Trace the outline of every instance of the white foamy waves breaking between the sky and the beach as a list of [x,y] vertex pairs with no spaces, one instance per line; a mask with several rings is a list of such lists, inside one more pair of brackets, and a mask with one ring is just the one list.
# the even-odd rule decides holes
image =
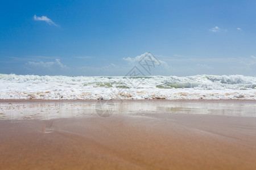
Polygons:
[[0,74],[0,99],[251,99],[256,78],[195,76],[38,76]]

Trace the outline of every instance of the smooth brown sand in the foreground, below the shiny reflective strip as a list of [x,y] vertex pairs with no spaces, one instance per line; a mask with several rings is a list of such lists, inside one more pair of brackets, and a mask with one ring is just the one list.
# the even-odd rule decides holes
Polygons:
[[256,117],[145,113],[2,120],[0,169],[256,169]]

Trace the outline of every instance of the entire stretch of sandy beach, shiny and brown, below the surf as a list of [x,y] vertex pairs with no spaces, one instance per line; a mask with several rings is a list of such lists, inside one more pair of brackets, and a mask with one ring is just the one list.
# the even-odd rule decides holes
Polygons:
[[255,101],[110,106],[2,101],[0,169],[256,169]]

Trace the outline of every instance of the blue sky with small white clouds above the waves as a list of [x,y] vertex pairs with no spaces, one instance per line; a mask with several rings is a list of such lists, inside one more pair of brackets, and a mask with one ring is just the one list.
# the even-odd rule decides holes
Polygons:
[[0,74],[256,76],[256,1],[1,1]]

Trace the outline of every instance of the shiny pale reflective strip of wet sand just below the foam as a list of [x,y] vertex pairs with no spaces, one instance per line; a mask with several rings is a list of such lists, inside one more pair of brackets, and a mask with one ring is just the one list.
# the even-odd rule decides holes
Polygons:
[[[71,117],[105,117],[112,114],[217,114],[225,116],[256,116],[255,101],[213,100],[213,101],[168,101],[168,100],[113,100],[110,104],[99,101],[50,101],[17,100],[2,101],[0,103],[0,120],[30,120]],[[101,109],[101,110],[100,110]],[[110,111],[111,109],[111,111]],[[100,111],[102,111],[102,114]]]

